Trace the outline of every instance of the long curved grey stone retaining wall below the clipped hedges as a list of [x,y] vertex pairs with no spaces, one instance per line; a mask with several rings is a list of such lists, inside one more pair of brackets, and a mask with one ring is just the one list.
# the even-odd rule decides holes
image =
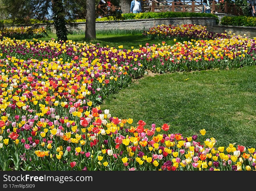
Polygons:
[[[217,14],[216,14],[217,15]],[[223,17],[224,15],[217,15]],[[221,19],[219,19],[221,20]],[[85,31],[85,22],[77,23],[77,28],[69,28],[71,31]],[[256,37],[256,27],[244,27],[244,26],[225,26],[218,25],[215,17],[178,17],[178,18],[163,18],[163,19],[133,19],[122,21],[100,21],[96,22],[96,30],[107,29],[139,29],[147,30],[151,27],[161,24],[166,25],[180,25],[180,24],[196,24],[206,26],[207,30],[215,33],[223,33],[225,31],[235,33],[236,35],[246,35],[250,38]],[[46,27],[45,24],[40,26]],[[53,33],[56,33],[53,24],[49,24],[49,27]]]

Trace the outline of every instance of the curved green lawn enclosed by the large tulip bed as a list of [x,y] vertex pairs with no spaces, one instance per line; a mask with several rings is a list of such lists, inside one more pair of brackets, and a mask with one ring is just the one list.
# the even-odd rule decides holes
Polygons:
[[110,95],[101,108],[133,118],[133,126],[140,119],[150,126],[168,123],[171,133],[185,137],[205,128],[204,138],[214,137],[216,147],[235,142],[255,147],[255,76],[255,66],[145,76]]

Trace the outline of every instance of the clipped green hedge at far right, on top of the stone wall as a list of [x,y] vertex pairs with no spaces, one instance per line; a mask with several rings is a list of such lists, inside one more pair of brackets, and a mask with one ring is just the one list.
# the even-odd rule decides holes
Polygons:
[[221,19],[221,25],[253,26],[253,27],[256,27],[256,17],[248,17],[248,16],[229,17],[229,16],[225,16]]

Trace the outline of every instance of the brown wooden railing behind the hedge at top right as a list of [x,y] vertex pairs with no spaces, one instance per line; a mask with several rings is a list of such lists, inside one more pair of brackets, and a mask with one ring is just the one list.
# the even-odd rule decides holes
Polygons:
[[[202,0],[182,0],[181,3],[177,5],[173,0],[144,0],[143,12],[202,12]],[[243,15],[242,9],[235,4],[216,1],[209,1],[209,3],[211,10],[217,13]]]

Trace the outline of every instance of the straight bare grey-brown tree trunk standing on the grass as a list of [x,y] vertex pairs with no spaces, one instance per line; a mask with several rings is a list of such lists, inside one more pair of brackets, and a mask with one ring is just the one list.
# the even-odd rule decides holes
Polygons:
[[85,25],[85,38],[96,38],[96,26],[95,26],[95,0],[86,1],[86,25]]

